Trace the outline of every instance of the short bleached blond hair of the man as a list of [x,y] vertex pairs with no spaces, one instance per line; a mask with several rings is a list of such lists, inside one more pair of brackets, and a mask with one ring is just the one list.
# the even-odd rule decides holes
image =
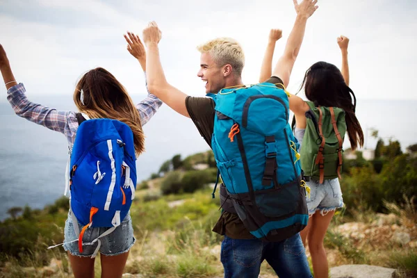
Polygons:
[[242,74],[245,65],[245,54],[236,40],[232,38],[216,38],[197,47],[201,53],[209,53],[220,67],[231,65],[236,76]]

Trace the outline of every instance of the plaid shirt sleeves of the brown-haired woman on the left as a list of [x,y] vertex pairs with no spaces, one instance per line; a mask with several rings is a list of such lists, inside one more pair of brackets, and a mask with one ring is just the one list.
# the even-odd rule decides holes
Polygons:
[[[79,126],[75,116],[76,112],[57,111],[47,106],[35,104],[28,100],[24,94],[25,92],[26,90],[22,83],[14,85],[7,91],[7,99],[15,113],[26,120],[63,133],[67,138],[69,147],[72,148],[76,130]],[[147,97],[136,105],[142,125],[149,121],[161,105],[162,101],[148,91]]]

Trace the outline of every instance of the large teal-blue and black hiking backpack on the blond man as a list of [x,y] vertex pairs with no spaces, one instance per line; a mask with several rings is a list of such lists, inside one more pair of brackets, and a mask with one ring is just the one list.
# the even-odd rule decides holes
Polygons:
[[222,206],[232,202],[256,238],[280,241],[297,234],[309,215],[286,92],[260,83],[208,97],[215,101],[211,147],[227,191],[224,198],[220,190]]

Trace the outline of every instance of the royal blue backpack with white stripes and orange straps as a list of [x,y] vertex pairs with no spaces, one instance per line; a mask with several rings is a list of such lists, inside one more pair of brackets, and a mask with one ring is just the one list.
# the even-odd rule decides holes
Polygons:
[[[76,117],[80,125],[69,168],[70,211],[83,252],[85,229],[110,227],[101,238],[114,231],[129,212],[136,190],[136,156],[127,124],[110,119],[85,120],[81,114]],[[78,222],[83,226],[81,231]],[[99,238],[84,243],[97,242],[92,257],[99,251]]]

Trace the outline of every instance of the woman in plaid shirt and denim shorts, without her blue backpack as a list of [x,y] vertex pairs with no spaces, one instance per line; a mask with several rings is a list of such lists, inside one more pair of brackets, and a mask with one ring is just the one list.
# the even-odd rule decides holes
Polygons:
[[[134,49],[128,47],[128,50],[139,60],[142,70],[145,72],[145,48],[136,35],[128,33],[125,37],[126,40],[134,40],[138,44]],[[63,133],[67,138],[70,149],[74,145],[76,133],[82,121],[80,117],[87,120],[88,118],[103,118],[118,120],[129,126],[131,133],[133,133],[134,152],[137,157],[145,150],[145,136],[142,125],[149,121],[162,104],[157,97],[148,92],[147,97],[135,106],[126,89],[117,81],[115,76],[104,68],[97,67],[86,72],[76,84],[74,102],[82,114],[74,111],[57,111],[53,108],[35,104],[27,99],[24,85],[23,83],[17,83],[15,76],[13,76],[6,51],[1,44],[0,71],[7,89],[7,99],[15,113],[26,120]],[[133,147],[131,149],[133,152]],[[99,169],[98,164],[99,162],[97,162],[97,168]],[[101,176],[104,176],[104,174],[101,174]],[[112,175],[108,173],[107,176],[109,178]],[[99,179],[97,179],[97,183],[98,181]],[[132,193],[134,195],[133,190]],[[106,227],[88,227],[88,229],[85,227],[83,229],[85,233],[83,231],[83,234],[81,234],[80,241],[81,245],[86,246],[79,249],[79,244],[76,243],[78,240],[77,229],[74,227],[78,226],[79,223],[74,223],[72,210],[70,210],[65,222],[64,249],[70,258],[75,277],[95,277],[94,256],[98,251],[101,254],[101,277],[122,277],[129,250],[136,239],[133,237],[133,227],[129,213],[119,221],[120,223],[111,234],[106,233],[108,230]],[[83,227],[80,226],[79,230],[81,228]],[[99,243],[96,244],[98,246],[83,243],[83,241],[91,241],[90,238],[99,238],[100,236]]]

